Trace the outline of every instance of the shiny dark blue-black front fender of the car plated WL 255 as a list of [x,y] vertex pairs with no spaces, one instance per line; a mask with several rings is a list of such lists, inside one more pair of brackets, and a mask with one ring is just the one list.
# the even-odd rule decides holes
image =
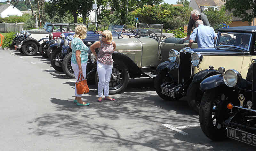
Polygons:
[[216,74],[216,75],[212,75],[206,79],[204,79],[201,84],[200,84],[200,90],[201,91],[205,91],[205,90],[209,90],[215,87],[219,87],[225,85],[224,79],[223,79],[223,75],[222,74]]

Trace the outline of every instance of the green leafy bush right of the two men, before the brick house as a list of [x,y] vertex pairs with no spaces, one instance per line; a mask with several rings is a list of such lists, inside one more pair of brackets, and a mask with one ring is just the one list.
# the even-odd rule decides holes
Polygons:
[[218,28],[230,25],[232,22],[232,14],[228,14],[225,6],[222,6],[220,11],[217,10],[206,10],[204,14],[207,16],[210,25],[217,32]]

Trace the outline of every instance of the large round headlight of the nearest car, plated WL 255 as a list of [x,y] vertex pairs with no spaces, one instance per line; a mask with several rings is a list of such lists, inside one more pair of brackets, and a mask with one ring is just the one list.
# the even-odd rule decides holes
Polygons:
[[223,79],[228,87],[234,87],[242,79],[242,76],[238,71],[229,69],[224,73]]

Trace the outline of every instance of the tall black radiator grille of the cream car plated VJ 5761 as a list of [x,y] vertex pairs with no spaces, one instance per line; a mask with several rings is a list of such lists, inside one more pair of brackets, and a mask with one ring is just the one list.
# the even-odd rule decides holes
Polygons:
[[[180,52],[179,84],[185,83],[191,78],[191,53]],[[184,79],[184,80],[183,80]],[[183,81],[183,82],[182,82]]]

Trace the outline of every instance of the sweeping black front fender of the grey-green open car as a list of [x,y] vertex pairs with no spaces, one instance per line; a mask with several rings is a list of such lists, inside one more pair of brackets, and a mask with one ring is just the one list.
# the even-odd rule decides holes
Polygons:
[[120,60],[121,62],[124,62],[126,64],[126,67],[128,68],[128,71],[130,73],[130,77],[132,78],[137,77],[135,75],[141,75],[143,74],[143,72],[140,70],[140,68],[138,67],[137,64],[135,64],[131,58],[125,56],[124,54],[120,53],[120,52],[114,52],[112,54],[113,60],[114,62],[116,60]]

